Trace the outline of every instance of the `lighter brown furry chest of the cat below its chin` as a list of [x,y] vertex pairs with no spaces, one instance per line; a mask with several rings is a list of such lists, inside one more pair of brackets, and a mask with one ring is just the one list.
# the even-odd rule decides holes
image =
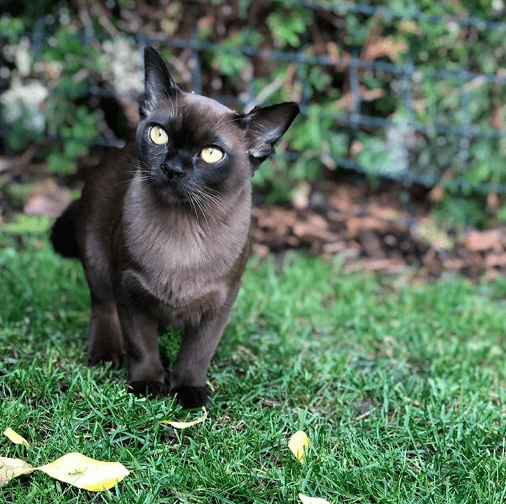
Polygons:
[[132,193],[125,202],[123,233],[136,266],[123,272],[123,281],[172,309],[222,304],[226,277],[242,253],[248,228],[247,207],[233,221],[217,223],[181,209],[153,207]]

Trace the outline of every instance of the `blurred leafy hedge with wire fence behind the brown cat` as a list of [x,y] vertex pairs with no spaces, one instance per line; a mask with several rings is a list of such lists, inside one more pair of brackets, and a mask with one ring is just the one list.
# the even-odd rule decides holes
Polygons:
[[343,176],[430,193],[447,225],[506,221],[503,0],[1,1],[0,207],[69,182],[137,121],[142,48],[184,90],[302,115],[254,183],[268,202]]

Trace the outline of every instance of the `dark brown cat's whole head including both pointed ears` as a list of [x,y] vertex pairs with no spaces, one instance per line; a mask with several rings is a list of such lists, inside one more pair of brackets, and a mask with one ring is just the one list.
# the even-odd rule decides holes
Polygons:
[[153,48],[144,50],[144,69],[139,166],[168,204],[203,209],[240,192],[299,113],[297,104],[287,102],[239,114],[183,92]]

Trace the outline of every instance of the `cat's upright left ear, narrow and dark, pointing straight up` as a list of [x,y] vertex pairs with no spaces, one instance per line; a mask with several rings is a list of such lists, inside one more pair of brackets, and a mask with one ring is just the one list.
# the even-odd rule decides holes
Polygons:
[[144,95],[140,100],[142,117],[149,116],[161,99],[172,98],[179,87],[167,69],[167,64],[156,49],[144,49]]

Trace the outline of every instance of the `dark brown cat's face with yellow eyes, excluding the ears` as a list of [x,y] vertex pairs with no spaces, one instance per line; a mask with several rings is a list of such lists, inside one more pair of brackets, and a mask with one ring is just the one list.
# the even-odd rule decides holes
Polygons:
[[251,171],[245,132],[225,106],[177,91],[139,124],[139,159],[164,202],[211,202],[237,192]]

